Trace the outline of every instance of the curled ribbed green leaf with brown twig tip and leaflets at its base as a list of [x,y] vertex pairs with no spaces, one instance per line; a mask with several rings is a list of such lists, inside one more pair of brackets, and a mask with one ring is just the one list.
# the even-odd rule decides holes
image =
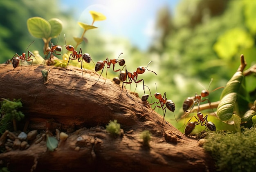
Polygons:
[[[240,131],[240,125],[243,121],[252,119],[253,114],[246,115],[249,104],[249,93],[245,89],[244,68],[247,65],[243,55],[240,57],[241,64],[236,73],[231,77],[220,96],[220,103],[217,108],[217,116],[221,121],[234,123],[236,131]],[[243,117],[245,115],[245,117]]]

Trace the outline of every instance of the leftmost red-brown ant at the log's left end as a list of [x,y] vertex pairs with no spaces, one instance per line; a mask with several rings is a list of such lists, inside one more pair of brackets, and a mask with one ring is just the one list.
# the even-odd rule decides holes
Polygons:
[[[29,44],[29,46],[30,46],[33,42],[35,42],[35,41],[32,41],[32,42]],[[27,47],[27,49],[29,48],[29,46]],[[25,51],[27,51],[27,49],[26,49]],[[18,67],[19,64],[20,64],[20,66],[21,66],[20,71],[21,71],[21,70],[22,70],[22,64],[20,63],[20,60],[21,60],[22,62],[25,62],[25,61],[29,62],[29,61],[32,60],[32,63],[33,63],[33,59],[30,59],[30,57],[31,57],[31,56],[35,57],[35,55],[34,55],[33,53],[31,53],[31,51],[28,51],[27,54],[28,54],[28,56],[26,56],[26,53],[22,53],[22,55],[18,55],[18,54],[16,53],[16,54],[11,58],[11,60],[7,60],[6,64],[9,64],[9,63],[11,62],[11,64],[12,64],[12,66],[13,66],[14,69],[15,69],[16,67]],[[30,55],[29,55],[29,54],[30,54]],[[31,65],[32,65],[32,63],[31,63]],[[19,73],[20,71],[18,71],[18,73]]]

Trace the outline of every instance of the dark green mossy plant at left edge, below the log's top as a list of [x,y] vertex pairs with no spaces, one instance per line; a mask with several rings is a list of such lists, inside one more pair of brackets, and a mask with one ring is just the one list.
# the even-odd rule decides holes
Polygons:
[[24,118],[24,114],[21,111],[18,111],[18,108],[22,108],[22,103],[20,99],[10,101],[8,99],[2,98],[0,113],[2,119],[0,121],[1,128],[0,133],[2,134],[8,127],[9,122],[13,122],[13,130],[17,130],[16,121],[20,121]]

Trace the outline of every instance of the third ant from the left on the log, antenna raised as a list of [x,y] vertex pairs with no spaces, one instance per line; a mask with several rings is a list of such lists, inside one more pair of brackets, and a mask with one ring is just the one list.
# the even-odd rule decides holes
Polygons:
[[[67,45],[66,43],[66,37],[65,37],[65,34],[64,34],[64,38],[65,38],[65,47],[68,51],[72,51],[72,53],[70,54],[70,57],[72,56],[72,58],[69,57],[68,59],[68,62],[67,62],[67,65],[68,63],[70,62],[70,59],[71,60],[76,60],[78,59],[78,62],[81,62],[81,70],[82,70],[82,76],[83,76],[83,68],[82,68],[82,65],[83,65],[83,60],[86,62],[86,63],[90,63],[91,62],[91,56],[88,54],[88,53],[82,53],[82,48],[80,48],[79,50],[79,53],[77,53],[77,51],[75,51],[74,47],[72,45]],[[82,57],[82,60],[80,60],[80,58]],[[92,61],[93,62],[93,61]],[[94,62],[93,62],[94,63]],[[65,68],[65,72],[67,70],[67,66]],[[65,73],[64,72],[64,73]]]

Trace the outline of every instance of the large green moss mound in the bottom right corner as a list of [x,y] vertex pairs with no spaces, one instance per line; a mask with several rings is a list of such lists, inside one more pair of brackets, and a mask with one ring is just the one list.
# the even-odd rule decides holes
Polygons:
[[252,172],[256,165],[256,127],[235,134],[215,132],[204,149],[216,160],[218,171]]

